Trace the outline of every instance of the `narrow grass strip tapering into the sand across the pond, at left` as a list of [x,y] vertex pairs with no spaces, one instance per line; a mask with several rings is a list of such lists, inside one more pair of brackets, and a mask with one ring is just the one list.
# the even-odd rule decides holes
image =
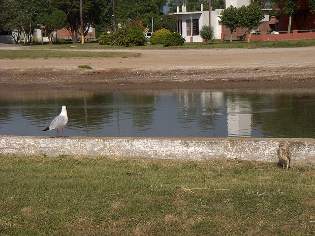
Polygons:
[[65,50],[0,50],[0,59],[37,59],[37,58],[128,58],[140,57],[141,53],[128,52],[92,52],[92,51],[65,51]]

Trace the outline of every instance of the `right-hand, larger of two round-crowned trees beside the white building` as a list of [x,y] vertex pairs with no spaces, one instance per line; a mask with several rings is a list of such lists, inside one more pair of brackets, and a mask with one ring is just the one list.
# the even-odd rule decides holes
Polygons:
[[257,28],[264,19],[261,5],[254,2],[248,6],[241,6],[237,11],[239,26],[249,31],[248,42],[251,42],[251,30]]

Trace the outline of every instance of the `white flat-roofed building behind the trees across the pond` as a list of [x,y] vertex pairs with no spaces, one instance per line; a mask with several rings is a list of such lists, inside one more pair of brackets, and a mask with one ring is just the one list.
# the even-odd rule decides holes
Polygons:
[[[243,5],[248,6],[252,0],[225,0],[225,7],[230,5],[234,7],[241,7]],[[211,11],[211,25],[215,30],[215,38],[221,38],[222,25],[220,23],[219,16],[223,9],[216,9]],[[269,10],[263,9],[265,18],[263,21],[269,21]],[[182,5],[181,11],[180,7],[177,7],[175,13],[170,13],[169,15],[175,15],[177,18],[177,32],[179,32],[186,42],[202,42],[203,39],[199,35],[199,30],[204,25],[209,25],[209,11],[203,10],[203,4],[201,4],[201,11],[191,11],[187,12],[186,5]]]

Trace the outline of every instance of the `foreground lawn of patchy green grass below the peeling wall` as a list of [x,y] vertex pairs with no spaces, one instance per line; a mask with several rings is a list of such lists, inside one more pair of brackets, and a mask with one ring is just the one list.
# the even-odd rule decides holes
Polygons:
[[314,169],[0,155],[0,235],[311,235]]

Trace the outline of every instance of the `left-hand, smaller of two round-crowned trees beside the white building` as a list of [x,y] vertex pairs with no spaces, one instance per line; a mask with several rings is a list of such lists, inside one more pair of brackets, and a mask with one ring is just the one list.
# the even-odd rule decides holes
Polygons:
[[233,31],[239,26],[238,9],[231,5],[221,12],[219,18],[223,26],[230,29],[230,42],[232,42]]

